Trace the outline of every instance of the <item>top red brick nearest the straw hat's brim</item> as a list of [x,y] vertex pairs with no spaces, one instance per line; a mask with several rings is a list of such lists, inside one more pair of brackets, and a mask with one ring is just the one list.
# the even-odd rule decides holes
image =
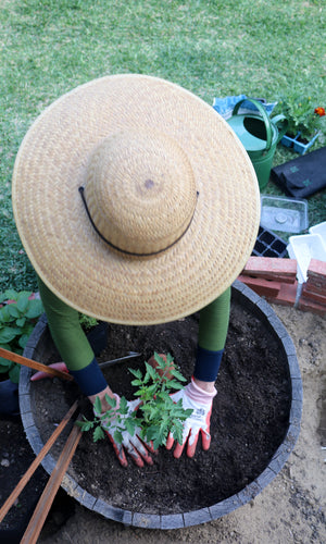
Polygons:
[[296,259],[279,259],[277,257],[250,257],[242,274],[263,276],[266,274],[283,277],[294,277],[297,275]]

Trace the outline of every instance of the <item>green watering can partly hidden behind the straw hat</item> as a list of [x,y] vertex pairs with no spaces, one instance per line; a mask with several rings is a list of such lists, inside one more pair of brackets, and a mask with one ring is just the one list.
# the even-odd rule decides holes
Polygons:
[[[240,106],[246,101],[252,102],[261,115],[255,113],[238,115]],[[271,119],[261,102],[253,98],[244,98],[236,103],[233,116],[227,122],[248,152],[262,190],[269,180],[276,146],[287,132],[287,119],[283,114]],[[278,126],[280,122],[283,123]]]

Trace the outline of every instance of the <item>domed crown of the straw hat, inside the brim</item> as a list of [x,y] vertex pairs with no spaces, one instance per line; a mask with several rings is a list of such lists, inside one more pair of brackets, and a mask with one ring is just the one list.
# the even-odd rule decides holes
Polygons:
[[185,151],[154,131],[120,132],[92,151],[85,182],[91,220],[121,251],[151,255],[187,231],[197,201]]

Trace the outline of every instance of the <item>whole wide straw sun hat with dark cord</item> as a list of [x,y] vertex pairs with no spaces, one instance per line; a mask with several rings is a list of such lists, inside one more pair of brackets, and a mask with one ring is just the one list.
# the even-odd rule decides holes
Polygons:
[[12,190],[42,281],[115,323],[206,306],[241,272],[259,227],[255,173],[228,124],[143,75],[95,79],[50,106],[21,145]]

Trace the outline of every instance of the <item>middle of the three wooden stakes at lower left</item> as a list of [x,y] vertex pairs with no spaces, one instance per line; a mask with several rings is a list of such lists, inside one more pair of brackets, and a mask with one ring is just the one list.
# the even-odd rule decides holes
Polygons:
[[2,507],[0,509],[0,523],[3,520],[4,516],[8,514],[8,511],[10,510],[10,508],[12,507],[12,505],[14,504],[14,502],[16,500],[16,498],[22,493],[22,491],[25,487],[25,485],[27,484],[27,482],[33,477],[34,472],[36,471],[36,469],[38,468],[38,466],[40,465],[40,462],[43,460],[43,458],[48,454],[49,449],[53,446],[53,444],[57,441],[57,438],[60,435],[60,433],[63,431],[63,429],[65,428],[65,425],[67,424],[67,422],[71,420],[71,418],[72,418],[73,413],[76,411],[77,407],[78,407],[78,400],[76,400],[73,404],[73,406],[71,407],[71,409],[64,416],[63,420],[59,423],[59,425],[55,429],[55,431],[53,432],[53,434],[50,436],[50,438],[48,440],[48,442],[43,445],[43,447],[40,450],[40,453],[38,454],[38,456],[34,459],[34,461],[32,462],[32,465],[28,468],[28,470],[22,477],[22,479],[20,480],[20,482],[17,483],[17,485],[15,486],[15,489],[13,490],[13,492],[11,493],[11,495],[8,497],[8,499],[5,500],[5,503],[2,505]]

